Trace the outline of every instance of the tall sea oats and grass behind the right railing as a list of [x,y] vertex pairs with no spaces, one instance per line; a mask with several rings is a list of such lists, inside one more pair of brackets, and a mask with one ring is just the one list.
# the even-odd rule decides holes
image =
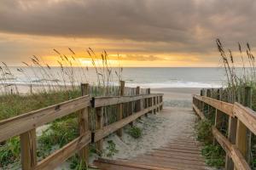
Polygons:
[[[252,88],[252,109],[256,111],[256,65],[253,48],[247,42],[244,47],[237,43],[237,52],[225,49],[224,44],[217,39],[218,52],[221,56],[222,65],[225,70],[225,89],[229,91],[228,102],[239,102],[245,104],[245,88]],[[227,120],[226,120],[227,121]],[[225,123],[227,125],[227,123]],[[227,127],[225,127],[227,129]],[[250,162],[252,169],[256,168],[256,136],[252,133]]]

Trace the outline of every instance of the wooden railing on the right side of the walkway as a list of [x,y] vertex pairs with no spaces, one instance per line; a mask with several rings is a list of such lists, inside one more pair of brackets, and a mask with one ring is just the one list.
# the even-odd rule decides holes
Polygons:
[[[250,93],[247,93],[250,94]],[[247,95],[246,98],[251,98]],[[249,107],[243,106],[239,103],[230,104],[218,99],[212,99],[206,96],[193,96],[193,110],[201,117],[206,119],[204,114],[205,106],[210,106],[215,110],[215,123],[212,126],[212,134],[218,143],[223,147],[226,155],[231,158],[235,169],[251,169],[248,164],[247,152],[250,150],[248,132],[256,134],[256,113]],[[207,114],[211,114],[210,109]],[[229,117],[229,126],[227,137],[218,130],[218,126],[222,115]],[[226,169],[233,169],[230,167],[229,159],[225,161]]]

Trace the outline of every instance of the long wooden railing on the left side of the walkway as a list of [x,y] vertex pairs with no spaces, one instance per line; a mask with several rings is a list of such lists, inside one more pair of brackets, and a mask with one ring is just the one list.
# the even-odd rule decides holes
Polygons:
[[[0,122],[0,143],[15,136],[20,136],[21,167],[22,169],[54,169],[70,156],[79,152],[80,159],[88,162],[88,144],[96,143],[96,149],[102,150],[102,139],[110,133],[117,131],[122,135],[122,127],[135,121],[138,117],[149,112],[160,111],[163,105],[163,94],[122,96],[125,83],[121,82],[120,96],[90,98],[88,94],[89,85],[82,84],[82,97],[52,105],[38,111],[32,111],[20,116],[15,116]],[[149,92],[149,91],[148,91]],[[122,107],[127,103],[136,105],[136,112],[123,118]],[[103,126],[103,107],[108,105],[119,105],[118,121]],[[90,109],[96,110],[96,130],[89,129]],[[46,123],[53,122],[58,118],[76,112],[79,120],[79,137],[73,139],[60,150],[47,156],[42,161],[37,161],[37,135],[36,128]]]

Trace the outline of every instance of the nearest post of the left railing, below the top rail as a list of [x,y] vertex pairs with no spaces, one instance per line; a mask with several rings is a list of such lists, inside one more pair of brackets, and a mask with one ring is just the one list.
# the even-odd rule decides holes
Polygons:
[[30,170],[37,165],[36,129],[20,134],[21,167]]

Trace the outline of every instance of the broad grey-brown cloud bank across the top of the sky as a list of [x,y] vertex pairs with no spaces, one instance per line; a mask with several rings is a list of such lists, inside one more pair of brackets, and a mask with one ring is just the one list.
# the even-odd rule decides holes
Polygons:
[[200,53],[216,37],[256,45],[255,16],[254,0],[2,0],[0,31],[177,43]]

